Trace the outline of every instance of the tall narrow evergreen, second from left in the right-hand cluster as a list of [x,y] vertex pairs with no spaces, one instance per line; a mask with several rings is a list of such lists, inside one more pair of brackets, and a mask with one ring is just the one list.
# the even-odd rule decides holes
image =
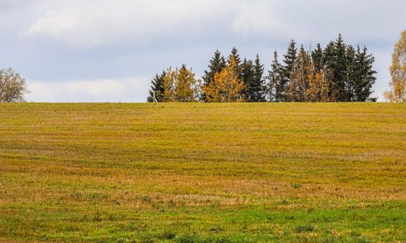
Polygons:
[[286,55],[283,56],[283,62],[285,63],[283,67],[283,79],[282,82],[280,83],[281,88],[282,88],[282,101],[286,101],[286,90],[287,87],[289,86],[289,82],[291,81],[291,74],[294,72],[294,65],[295,65],[295,60],[296,60],[296,54],[297,54],[297,49],[296,49],[296,42],[294,40],[291,40],[289,43],[289,47],[287,49]]

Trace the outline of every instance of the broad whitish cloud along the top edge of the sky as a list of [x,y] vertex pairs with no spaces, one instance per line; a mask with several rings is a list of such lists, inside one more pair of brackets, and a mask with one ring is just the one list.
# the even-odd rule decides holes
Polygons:
[[40,0],[35,9],[41,15],[23,34],[52,37],[77,47],[146,43],[153,37],[176,36],[179,32],[198,34],[224,13],[225,8],[213,6],[212,0],[71,0],[51,6],[49,1]]

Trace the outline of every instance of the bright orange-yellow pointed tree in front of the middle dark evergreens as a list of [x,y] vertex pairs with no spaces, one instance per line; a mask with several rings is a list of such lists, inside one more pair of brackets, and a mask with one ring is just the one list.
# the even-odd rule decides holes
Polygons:
[[228,65],[221,72],[214,74],[210,85],[203,86],[203,92],[208,102],[242,102],[244,97],[244,82],[236,72],[235,56],[231,56]]

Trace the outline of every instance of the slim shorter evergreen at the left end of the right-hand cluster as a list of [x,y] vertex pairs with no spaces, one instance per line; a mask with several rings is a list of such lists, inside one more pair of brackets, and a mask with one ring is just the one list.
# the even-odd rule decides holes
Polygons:
[[278,61],[278,52],[273,52],[273,60],[271,62],[271,69],[268,71],[268,84],[267,84],[267,97],[269,101],[280,102],[282,101],[283,87],[282,81],[284,78],[284,70]]

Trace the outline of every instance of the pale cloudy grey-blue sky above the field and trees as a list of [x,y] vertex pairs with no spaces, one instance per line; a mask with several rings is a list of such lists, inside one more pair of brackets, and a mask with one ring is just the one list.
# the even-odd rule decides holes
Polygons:
[[0,0],[0,68],[26,78],[27,101],[145,102],[155,74],[185,63],[201,76],[216,49],[269,69],[291,39],[341,33],[375,56],[382,97],[405,13],[404,0]]

